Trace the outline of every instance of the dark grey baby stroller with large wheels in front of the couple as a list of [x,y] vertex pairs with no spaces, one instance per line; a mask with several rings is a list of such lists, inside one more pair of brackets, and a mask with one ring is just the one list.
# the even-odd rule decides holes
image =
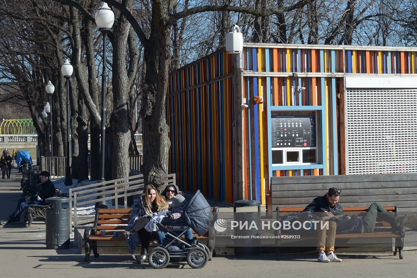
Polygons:
[[[156,227],[161,232],[170,236],[170,238],[166,238],[163,244],[158,245],[149,252],[148,263],[153,268],[162,269],[168,265],[171,258],[176,258],[178,261],[186,258],[188,265],[192,268],[203,268],[208,261],[208,247],[199,243],[196,238],[193,239],[192,243],[188,243],[185,237],[183,237],[190,227],[198,235],[205,234],[213,220],[210,205],[208,205],[200,190],[197,190],[196,194],[188,202],[183,217],[178,219],[180,221],[165,217],[161,222],[158,222],[157,217],[154,217],[155,215],[151,213],[151,209],[148,207],[145,195],[141,196],[141,202],[146,210],[145,217],[148,217],[149,221],[156,224]],[[173,230],[181,232],[177,234]],[[174,244],[179,250],[170,248]]]

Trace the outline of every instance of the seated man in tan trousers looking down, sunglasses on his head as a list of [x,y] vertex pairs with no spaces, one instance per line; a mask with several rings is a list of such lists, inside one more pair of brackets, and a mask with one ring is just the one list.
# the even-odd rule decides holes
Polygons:
[[[310,212],[326,212],[328,217],[343,214],[342,206],[339,205],[339,196],[342,190],[336,187],[329,188],[329,191],[322,197],[314,198],[310,205],[306,206],[304,211]],[[321,227],[321,225],[320,225]],[[337,258],[334,251],[334,241],[336,238],[336,222],[329,222],[329,232],[326,229],[318,230],[317,250],[319,250],[319,262],[341,262],[342,259]],[[325,252],[326,251],[326,252]]]

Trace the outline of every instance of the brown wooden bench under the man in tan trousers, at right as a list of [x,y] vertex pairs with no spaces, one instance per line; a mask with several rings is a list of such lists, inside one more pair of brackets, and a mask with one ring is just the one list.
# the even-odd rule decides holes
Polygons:
[[[297,213],[304,210],[305,207],[276,207],[276,218],[278,221],[281,220],[281,217],[289,213]],[[397,216],[398,208],[396,206],[384,207],[389,212],[394,212],[394,215]],[[348,215],[357,215],[362,216],[368,207],[343,207],[343,211]],[[281,230],[276,231],[276,235],[281,235]],[[377,223],[375,225],[374,232],[372,233],[349,233],[349,234],[336,234],[336,244],[338,239],[359,239],[359,238],[395,238],[395,249],[394,256],[397,255],[397,250],[399,251],[399,258],[403,258],[402,249],[404,247],[404,227],[399,226],[397,229],[391,227],[391,225],[385,222],[382,219],[377,218]],[[301,235],[301,240],[317,240],[317,234],[312,234],[309,236]],[[281,240],[277,240],[277,260],[280,256],[280,246]]]

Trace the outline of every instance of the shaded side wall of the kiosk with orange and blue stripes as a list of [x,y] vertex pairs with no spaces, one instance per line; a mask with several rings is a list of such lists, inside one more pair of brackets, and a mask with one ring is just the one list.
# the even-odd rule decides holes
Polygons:
[[181,190],[233,202],[231,56],[207,56],[169,79],[169,172]]

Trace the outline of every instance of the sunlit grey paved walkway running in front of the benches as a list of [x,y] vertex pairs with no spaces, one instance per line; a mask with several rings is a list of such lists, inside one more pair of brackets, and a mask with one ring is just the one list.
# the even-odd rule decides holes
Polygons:
[[[19,173],[20,174],[20,173]],[[20,177],[13,170],[12,179],[0,179],[0,218],[15,209],[21,197]],[[404,260],[392,253],[338,254],[342,263],[317,262],[312,253],[284,254],[280,261],[274,255],[236,259],[234,255],[218,255],[203,269],[191,269],[184,263],[171,263],[163,270],[132,262],[130,256],[93,256],[83,261],[76,248],[47,250],[45,224],[35,220],[24,228],[20,224],[0,225],[1,277],[415,277],[416,251],[405,251]]]

